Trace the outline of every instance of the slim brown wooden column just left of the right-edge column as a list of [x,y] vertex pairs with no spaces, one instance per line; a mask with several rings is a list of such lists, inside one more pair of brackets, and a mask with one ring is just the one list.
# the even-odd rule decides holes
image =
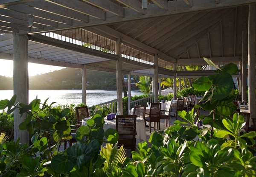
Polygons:
[[247,55],[248,55],[248,6],[243,6],[243,31],[242,31],[242,101],[247,103]]

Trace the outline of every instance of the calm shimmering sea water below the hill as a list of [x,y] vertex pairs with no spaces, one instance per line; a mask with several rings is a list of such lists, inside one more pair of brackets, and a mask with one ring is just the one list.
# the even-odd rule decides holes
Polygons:
[[[143,95],[140,91],[131,91],[131,96]],[[11,99],[13,96],[13,90],[0,90],[0,100]],[[38,96],[41,102],[44,102],[47,98],[47,103],[50,104],[53,101],[58,104],[80,104],[82,101],[82,90],[29,90],[29,102]],[[111,101],[117,98],[116,91],[109,90],[86,90],[86,102],[87,105],[92,106],[107,101]]]

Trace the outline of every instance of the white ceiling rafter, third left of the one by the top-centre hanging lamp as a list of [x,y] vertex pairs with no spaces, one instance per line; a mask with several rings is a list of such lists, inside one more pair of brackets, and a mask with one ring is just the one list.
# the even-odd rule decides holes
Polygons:
[[45,0],[37,0],[26,4],[41,9],[43,11],[50,12],[52,14],[61,15],[63,17],[69,17],[71,19],[80,20],[82,22],[88,22],[88,15],[82,14],[78,11],[73,11],[69,8],[58,6],[54,3],[49,3]]

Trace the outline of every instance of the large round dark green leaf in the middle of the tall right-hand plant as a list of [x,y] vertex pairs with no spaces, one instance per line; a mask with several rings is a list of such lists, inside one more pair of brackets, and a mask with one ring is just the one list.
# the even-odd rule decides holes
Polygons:
[[212,84],[213,98],[218,100],[227,97],[234,87],[232,76],[227,72],[219,73],[213,79]]

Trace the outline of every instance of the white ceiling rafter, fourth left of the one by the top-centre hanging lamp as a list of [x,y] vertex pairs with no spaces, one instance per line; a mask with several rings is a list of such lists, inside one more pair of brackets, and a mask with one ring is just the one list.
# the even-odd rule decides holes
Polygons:
[[68,24],[68,25],[72,25],[72,23],[73,23],[72,19],[70,19],[70,18],[62,17],[62,16],[59,16],[56,14],[51,14],[46,11],[41,11],[39,9],[32,8],[32,7],[23,5],[23,4],[8,6],[7,8],[14,10],[14,11],[19,11],[19,12],[22,12],[25,14],[33,15],[36,17],[41,17],[41,18],[44,18],[47,20],[52,20],[55,22],[61,22],[61,23]]

